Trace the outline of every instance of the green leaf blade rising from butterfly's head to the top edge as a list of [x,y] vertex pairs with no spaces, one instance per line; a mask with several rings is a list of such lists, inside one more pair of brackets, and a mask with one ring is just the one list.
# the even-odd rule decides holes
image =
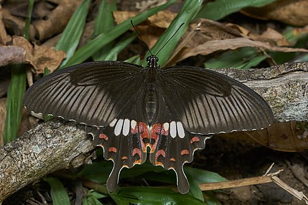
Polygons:
[[[192,1],[184,1],[183,7],[181,8],[181,11],[174,20],[172,20],[172,23],[166,29],[166,31],[162,34],[162,36],[159,37],[157,40],[155,46],[151,49],[151,53],[153,55],[156,55],[157,52],[162,49],[162,46],[166,44],[164,49],[160,51],[160,53],[157,55],[159,58],[159,64],[163,67],[166,64],[166,61],[168,61],[170,55],[174,51],[175,47],[177,46],[177,42],[179,42],[179,39],[183,34],[185,33],[186,28],[188,27],[190,21],[196,13],[198,12],[199,8],[201,7],[203,1],[199,0],[192,0]],[[184,25],[179,29],[179,26],[184,23]],[[179,29],[179,31],[177,31]],[[175,32],[177,33],[175,34]],[[175,36],[174,36],[175,35]],[[146,56],[149,56],[150,53],[148,52]],[[146,66],[146,58],[142,61],[142,65]]]

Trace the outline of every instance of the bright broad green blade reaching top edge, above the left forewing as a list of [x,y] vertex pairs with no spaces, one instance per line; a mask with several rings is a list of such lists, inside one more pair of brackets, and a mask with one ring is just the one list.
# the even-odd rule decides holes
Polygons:
[[66,59],[62,61],[60,68],[63,68],[66,61],[68,61],[76,51],[82,32],[84,31],[90,2],[90,0],[85,0],[81,5],[79,5],[79,8],[77,8],[73,16],[70,18],[60,40],[55,46],[55,50],[64,51],[66,53]]

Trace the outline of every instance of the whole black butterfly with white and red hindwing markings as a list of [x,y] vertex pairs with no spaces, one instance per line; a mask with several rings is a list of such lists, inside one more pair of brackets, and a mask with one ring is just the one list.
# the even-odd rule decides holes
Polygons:
[[223,74],[192,66],[159,68],[96,61],[53,72],[38,80],[23,103],[36,113],[99,127],[94,142],[114,162],[107,189],[114,191],[123,167],[150,161],[177,174],[179,192],[189,183],[183,164],[215,133],[268,126],[273,114],[256,92]]

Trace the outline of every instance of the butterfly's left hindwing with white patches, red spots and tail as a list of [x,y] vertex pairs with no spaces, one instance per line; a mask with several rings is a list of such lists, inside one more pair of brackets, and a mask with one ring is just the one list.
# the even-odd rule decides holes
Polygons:
[[137,100],[125,107],[109,126],[100,128],[99,135],[94,138],[94,143],[103,147],[104,158],[114,162],[106,184],[109,191],[116,190],[123,167],[131,168],[146,161],[150,136],[142,112],[143,94],[140,92]]

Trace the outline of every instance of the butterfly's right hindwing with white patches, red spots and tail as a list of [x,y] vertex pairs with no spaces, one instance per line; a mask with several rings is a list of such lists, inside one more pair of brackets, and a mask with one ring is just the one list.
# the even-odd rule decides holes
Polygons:
[[205,140],[210,136],[196,135],[186,131],[183,124],[159,97],[159,106],[151,126],[150,161],[164,169],[173,169],[177,174],[180,193],[188,193],[190,184],[183,172],[183,164],[191,163],[194,151],[205,148]]

